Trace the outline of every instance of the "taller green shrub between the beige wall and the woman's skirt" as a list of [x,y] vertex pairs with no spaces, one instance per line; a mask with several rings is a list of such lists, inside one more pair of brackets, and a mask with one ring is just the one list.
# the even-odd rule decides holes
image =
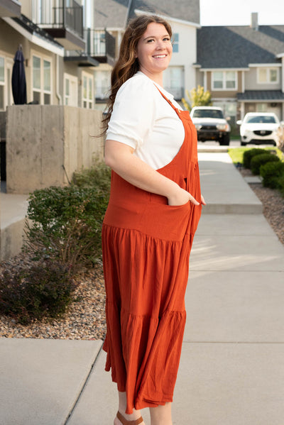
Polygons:
[[36,260],[54,258],[70,275],[101,258],[102,221],[109,193],[101,189],[49,187],[29,197],[23,250]]

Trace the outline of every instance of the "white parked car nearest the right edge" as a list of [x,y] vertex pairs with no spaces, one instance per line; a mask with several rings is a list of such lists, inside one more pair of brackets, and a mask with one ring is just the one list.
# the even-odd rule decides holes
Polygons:
[[240,127],[241,145],[279,144],[279,128],[281,123],[273,112],[249,112],[244,120],[236,121]]

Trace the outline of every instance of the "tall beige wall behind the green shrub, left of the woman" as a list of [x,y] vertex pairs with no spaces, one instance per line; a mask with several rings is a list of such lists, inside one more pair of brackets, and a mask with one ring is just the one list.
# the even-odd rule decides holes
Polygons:
[[[17,105],[7,108],[7,193],[67,184],[67,177],[103,157],[102,113],[72,106]],[[65,171],[62,165],[64,165]]]

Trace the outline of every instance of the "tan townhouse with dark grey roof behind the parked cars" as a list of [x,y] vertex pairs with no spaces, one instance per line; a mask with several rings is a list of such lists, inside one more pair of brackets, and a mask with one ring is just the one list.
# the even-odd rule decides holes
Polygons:
[[284,25],[205,26],[197,30],[197,84],[212,94],[231,122],[247,112],[284,119]]

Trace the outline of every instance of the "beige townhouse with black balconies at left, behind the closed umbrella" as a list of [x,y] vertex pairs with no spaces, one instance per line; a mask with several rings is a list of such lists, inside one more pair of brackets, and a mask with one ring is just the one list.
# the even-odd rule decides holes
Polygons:
[[[25,58],[27,103],[94,108],[82,0],[0,0],[0,111],[13,104],[13,57]],[[75,54],[74,54],[75,52]]]

